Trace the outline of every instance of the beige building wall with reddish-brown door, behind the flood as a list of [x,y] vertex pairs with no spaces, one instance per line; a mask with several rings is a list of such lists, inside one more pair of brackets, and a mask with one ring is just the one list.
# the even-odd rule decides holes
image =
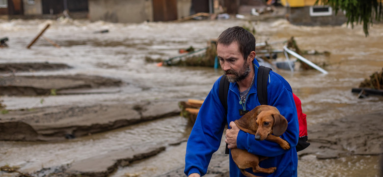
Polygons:
[[213,0],[89,0],[89,19],[115,23],[172,21],[213,13]]

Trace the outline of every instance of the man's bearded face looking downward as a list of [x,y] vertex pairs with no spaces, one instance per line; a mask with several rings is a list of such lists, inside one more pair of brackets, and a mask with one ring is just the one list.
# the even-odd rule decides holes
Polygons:
[[242,81],[250,73],[249,60],[245,61],[242,53],[239,51],[237,42],[233,42],[228,46],[218,44],[217,54],[221,68],[229,82]]

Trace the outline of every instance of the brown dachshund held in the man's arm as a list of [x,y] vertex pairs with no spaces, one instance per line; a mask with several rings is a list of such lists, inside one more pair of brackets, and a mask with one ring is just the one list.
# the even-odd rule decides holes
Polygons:
[[[279,111],[274,106],[257,106],[242,118],[235,120],[234,123],[242,131],[255,135],[255,140],[269,140],[278,143],[283,149],[290,148],[289,143],[279,137],[287,129],[287,120],[279,114]],[[239,148],[232,148],[231,155],[241,173],[246,177],[256,177],[246,172],[245,169],[247,168],[252,168],[254,173],[268,174],[274,173],[276,170],[276,167],[268,169],[259,167],[259,162],[268,157],[260,157]]]

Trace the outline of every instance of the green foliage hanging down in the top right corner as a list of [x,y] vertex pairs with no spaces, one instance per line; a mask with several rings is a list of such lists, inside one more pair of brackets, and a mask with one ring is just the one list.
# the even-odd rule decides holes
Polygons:
[[363,31],[368,36],[368,25],[374,20],[381,21],[383,19],[382,3],[383,0],[317,0],[316,4],[331,6],[335,12],[344,10],[347,17],[347,24],[351,23],[354,28],[354,22],[363,25]]

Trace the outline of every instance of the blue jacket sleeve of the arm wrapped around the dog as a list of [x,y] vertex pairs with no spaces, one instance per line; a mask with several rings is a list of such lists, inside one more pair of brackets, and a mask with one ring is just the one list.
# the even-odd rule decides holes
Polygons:
[[[272,78],[273,79],[273,78]],[[278,78],[274,78],[279,81]],[[283,80],[284,81],[284,80]],[[287,130],[280,137],[290,144],[290,149],[295,150],[299,138],[299,125],[297,110],[290,86],[282,82],[273,82],[268,86],[268,104],[276,107],[280,114],[288,121]],[[270,87],[271,86],[271,87]],[[254,135],[240,131],[237,137],[237,147],[246,149],[248,152],[274,157],[285,153],[288,150],[282,149],[277,143],[270,141],[256,141]]]

